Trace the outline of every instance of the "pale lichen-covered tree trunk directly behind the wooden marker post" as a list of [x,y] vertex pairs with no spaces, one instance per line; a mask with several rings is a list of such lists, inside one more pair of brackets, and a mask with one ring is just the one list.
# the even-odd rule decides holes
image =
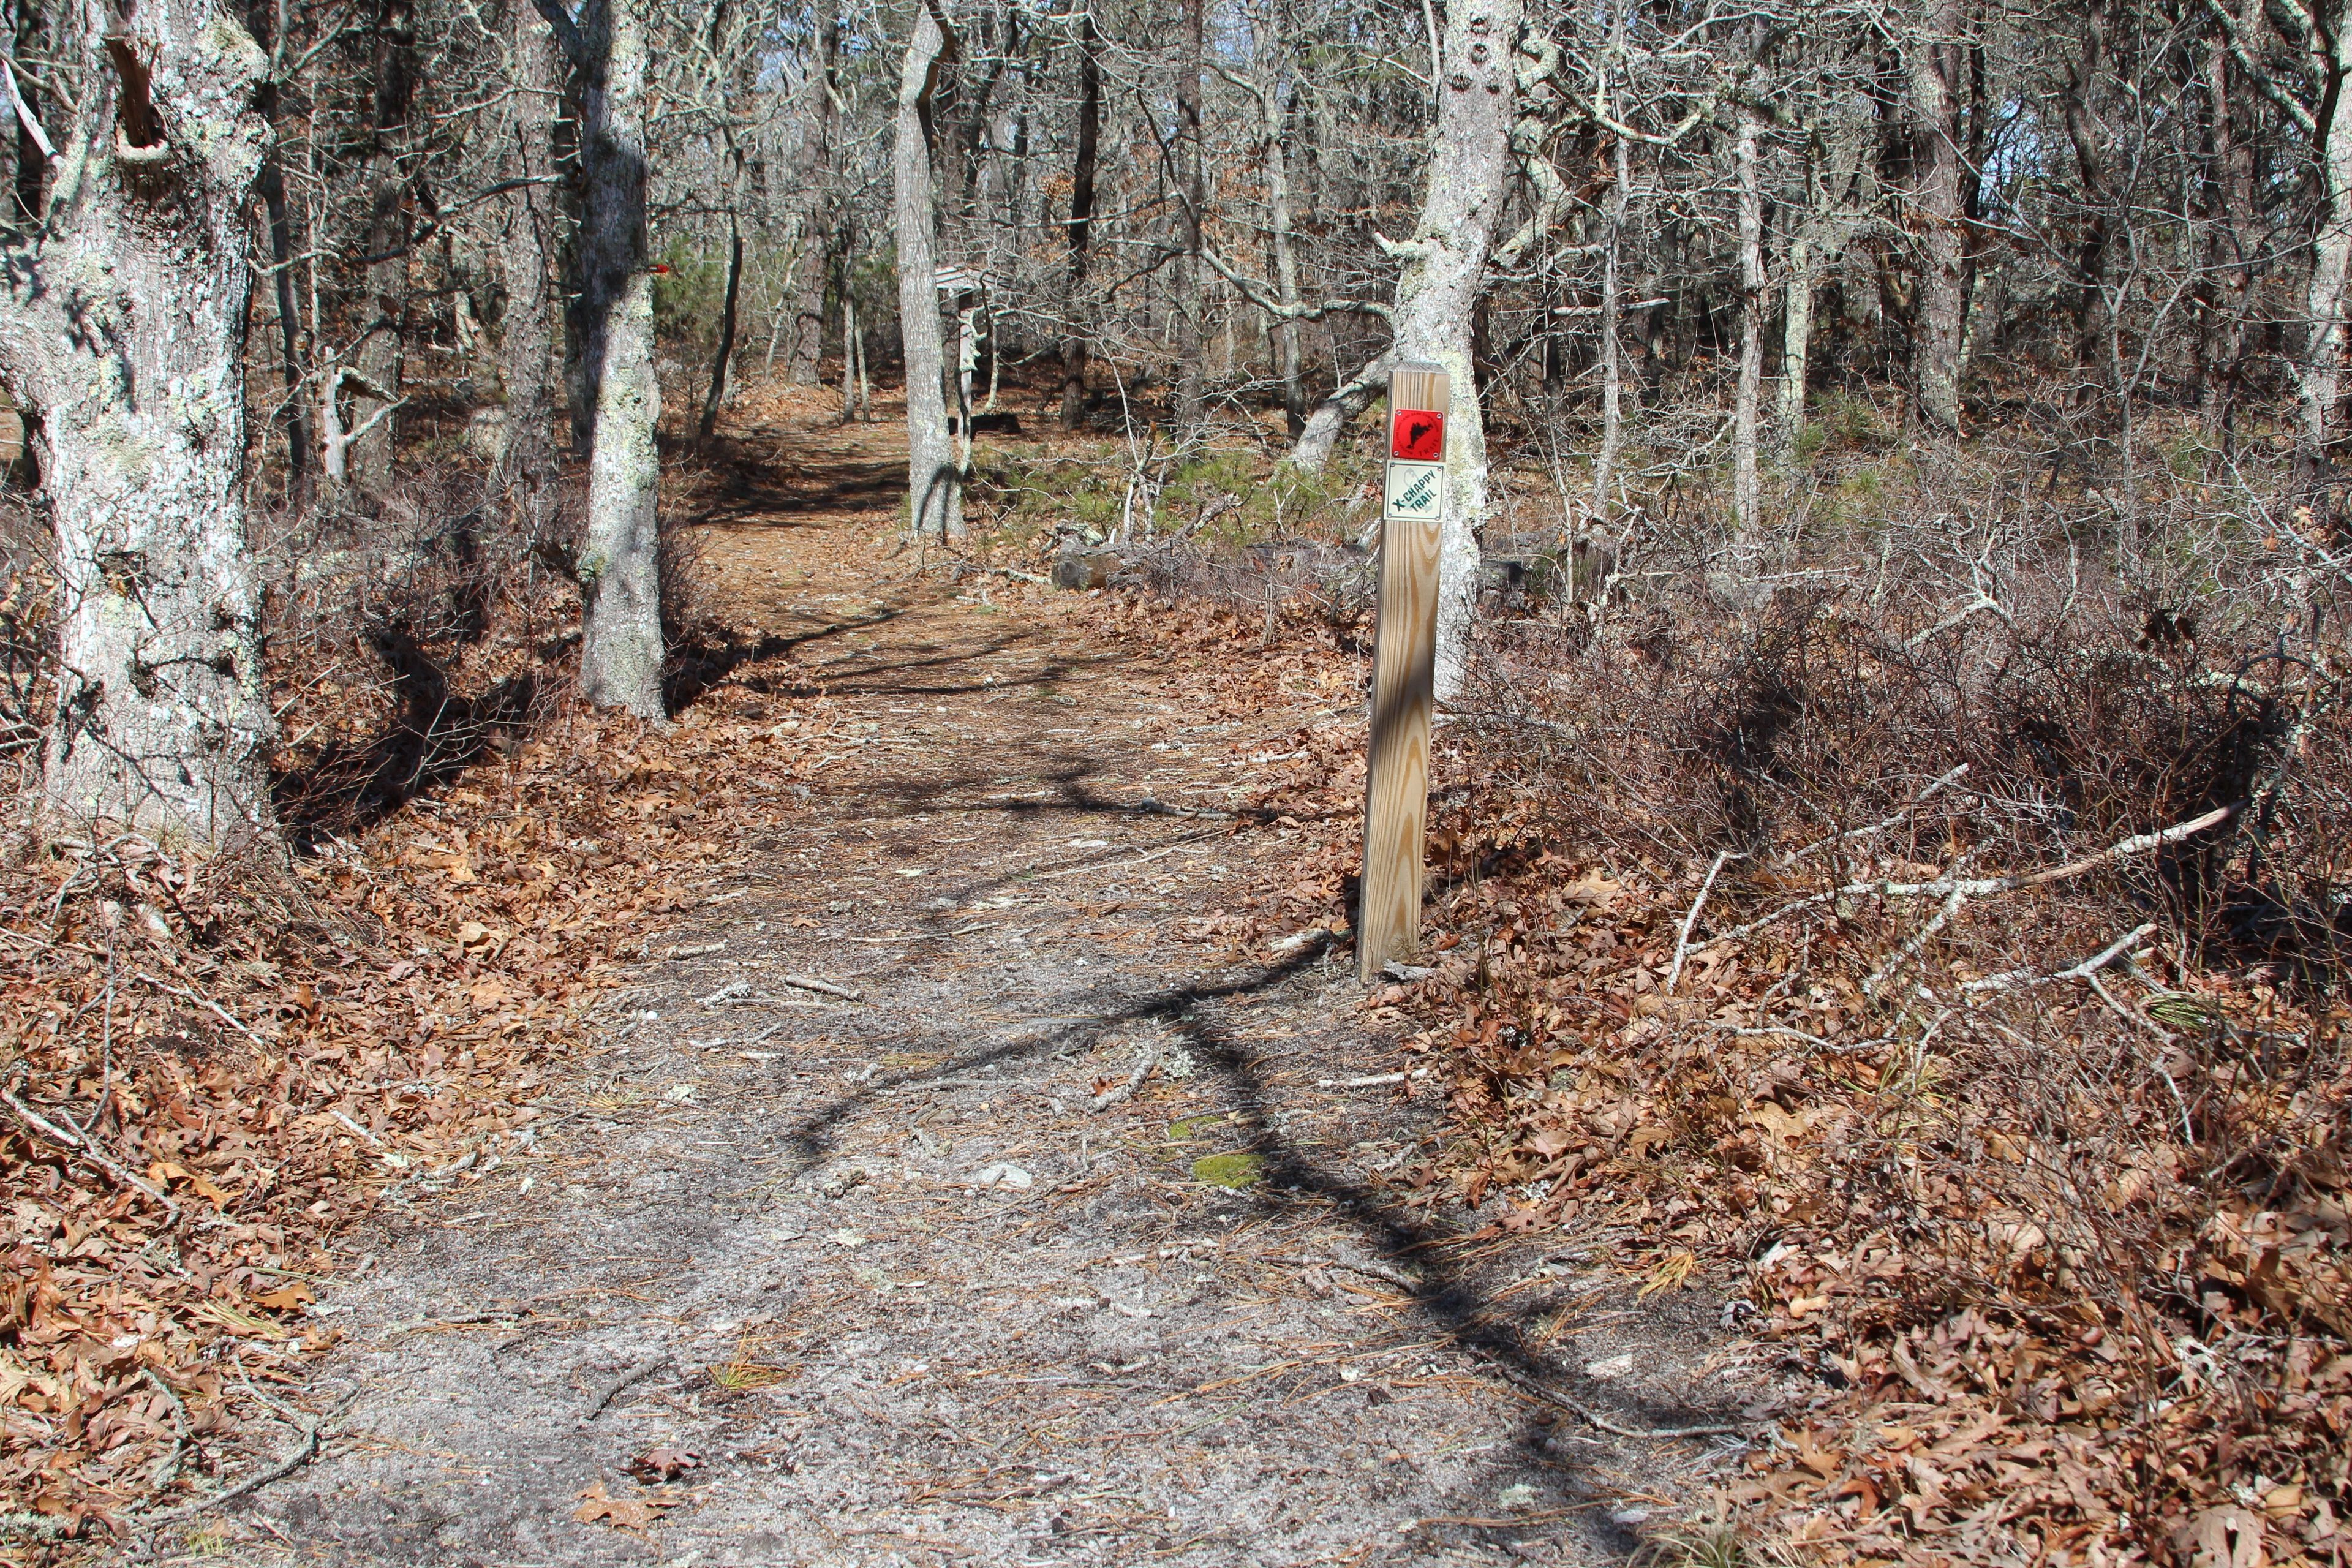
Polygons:
[[[1446,7],[1444,80],[1430,183],[1411,242],[1397,247],[1395,327],[1399,362],[1428,360],[1454,376],[1446,440],[1446,510],[1437,562],[1437,696],[1463,689],[1477,609],[1477,531],[1486,520],[1486,425],[1470,355],[1486,254],[1510,183],[1517,80],[1512,45],[1519,0],[1456,0]],[[1312,421],[1310,421],[1312,423]]]

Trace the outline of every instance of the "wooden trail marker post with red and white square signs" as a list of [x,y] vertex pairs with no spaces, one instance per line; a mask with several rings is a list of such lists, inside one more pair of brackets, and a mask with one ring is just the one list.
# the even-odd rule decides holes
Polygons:
[[1421,835],[1430,811],[1437,686],[1437,536],[1446,512],[1454,378],[1435,364],[1388,374],[1388,484],[1381,501],[1381,609],[1371,642],[1371,755],[1355,973],[1421,943]]

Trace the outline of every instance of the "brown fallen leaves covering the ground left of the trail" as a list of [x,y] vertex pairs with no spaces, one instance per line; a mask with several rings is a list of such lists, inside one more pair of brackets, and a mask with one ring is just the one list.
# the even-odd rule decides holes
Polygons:
[[[334,1340],[334,1237],[536,1157],[623,961],[731,882],[830,731],[746,665],[670,731],[564,710],[292,865],[24,839],[0,917],[0,1512],[96,1537],[245,1465]],[[659,954],[654,954],[659,957]],[[158,1495],[158,1488],[165,1488]]]

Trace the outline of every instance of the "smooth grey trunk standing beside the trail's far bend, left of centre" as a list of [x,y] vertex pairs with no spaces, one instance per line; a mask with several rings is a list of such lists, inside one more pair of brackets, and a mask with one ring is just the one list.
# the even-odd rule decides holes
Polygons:
[[906,482],[917,538],[964,536],[964,475],[948,447],[941,364],[936,223],[931,197],[931,99],[948,35],[929,7],[915,14],[898,75],[891,139],[891,207],[898,223],[898,334],[906,343]]

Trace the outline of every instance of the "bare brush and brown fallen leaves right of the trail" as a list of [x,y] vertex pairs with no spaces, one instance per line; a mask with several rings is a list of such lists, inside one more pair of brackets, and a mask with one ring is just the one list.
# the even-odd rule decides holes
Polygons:
[[1374,999],[1430,1194],[1729,1281],[1813,1387],[1731,1497],[1809,1559],[2336,1561],[2345,562],[2211,498],[1677,548],[1446,731],[1456,945]]

